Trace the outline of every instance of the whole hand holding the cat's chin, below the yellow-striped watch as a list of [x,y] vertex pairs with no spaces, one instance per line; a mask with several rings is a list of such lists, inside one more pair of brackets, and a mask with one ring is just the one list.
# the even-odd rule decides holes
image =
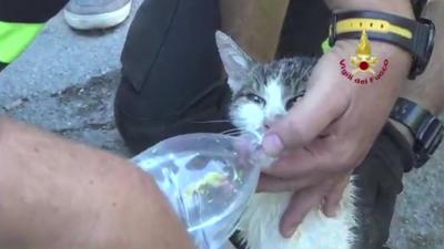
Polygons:
[[372,42],[379,58],[375,71],[384,59],[387,70],[372,84],[349,81],[341,74],[340,61],[349,62],[356,46],[357,41],[336,42],[314,68],[305,96],[264,138],[265,153],[279,159],[264,172],[259,189],[294,191],[281,221],[286,237],[313,207],[322,206],[326,216],[334,216],[350,174],[364,159],[406,80],[410,55],[397,46]]

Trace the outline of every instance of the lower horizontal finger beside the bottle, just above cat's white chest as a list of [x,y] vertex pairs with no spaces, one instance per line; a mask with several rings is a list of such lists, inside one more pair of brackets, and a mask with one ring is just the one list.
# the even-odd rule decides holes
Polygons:
[[316,181],[317,181],[316,177],[304,177],[300,179],[282,179],[279,177],[262,174],[258,185],[258,190],[270,191],[270,193],[294,191],[302,188],[306,188],[307,186],[312,186]]

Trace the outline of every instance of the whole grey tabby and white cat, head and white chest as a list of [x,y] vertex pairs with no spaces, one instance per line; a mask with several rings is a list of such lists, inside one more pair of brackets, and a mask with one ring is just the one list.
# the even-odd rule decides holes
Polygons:
[[[316,60],[294,58],[260,64],[229,35],[218,31],[215,39],[232,91],[230,120],[238,128],[263,136],[303,97]],[[351,249],[355,239],[354,191],[351,180],[335,218],[313,208],[290,239],[281,236],[279,221],[292,193],[255,194],[239,230],[251,249]]]

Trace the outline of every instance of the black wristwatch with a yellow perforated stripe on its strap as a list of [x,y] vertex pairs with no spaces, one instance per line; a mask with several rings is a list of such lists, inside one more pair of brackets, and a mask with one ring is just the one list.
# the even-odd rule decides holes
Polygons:
[[360,39],[363,30],[370,40],[397,45],[412,54],[408,79],[414,80],[426,69],[435,39],[435,25],[431,20],[412,20],[380,11],[334,11],[329,44],[333,46],[342,39]]

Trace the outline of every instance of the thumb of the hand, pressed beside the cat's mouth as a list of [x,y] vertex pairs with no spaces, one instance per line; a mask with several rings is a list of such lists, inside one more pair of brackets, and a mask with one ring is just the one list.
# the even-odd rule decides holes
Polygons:
[[329,87],[331,77],[315,76],[313,81],[320,84],[310,89],[287,115],[266,133],[262,145],[270,156],[279,156],[284,148],[306,145],[346,111],[349,103],[344,93],[340,89]]

